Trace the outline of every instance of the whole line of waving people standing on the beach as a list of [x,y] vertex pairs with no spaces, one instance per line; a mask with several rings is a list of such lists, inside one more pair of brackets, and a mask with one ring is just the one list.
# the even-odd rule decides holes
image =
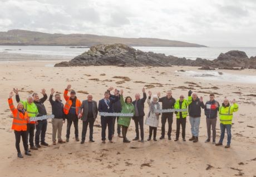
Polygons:
[[[68,95],[68,92],[70,95]],[[111,94],[111,92],[113,94]],[[16,101],[18,103],[17,108],[14,107],[12,97],[16,94]],[[9,94],[8,103],[9,108],[13,113],[13,123],[12,129],[14,130],[16,138],[16,149],[18,152],[18,157],[23,158],[21,150],[19,148],[19,143],[23,141],[23,146],[26,155],[31,155],[31,149],[37,150],[41,148],[41,145],[48,146],[45,141],[45,134],[47,130],[47,119],[31,121],[29,118],[41,117],[47,115],[47,111],[44,102],[47,100],[46,90],[42,89],[43,97],[39,98],[37,93],[28,95],[26,100],[21,100],[19,98],[18,89],[13,89]],[[179,99],[175,100],[172,97],[171,90],[168,90],[166,96],[160,97],[160,93],[152,95],[149,90],[149,97],[147,97],[145,88],[142,88],[143,97],[139,93],[135,94],[135,100],[127,96],[124,97],[124,90],[117,90],[110,87],[104,93],[104,98],[99,101],[99,104],[93,100],[91,94],[87,95],[87,99],[81,101],[76,97],[75,90],[71,90],[71,85],[67,85],[63,96],[66,103],[63,104],[61,100],[60,93],[55,93],[54,89],[51,89],[51,95],[49,101],[52,106],[52,114],[54,118],[51,120],[52,123],[52,143],[66,143],[70,141],[70,129],[73,123],[75,128],[75,140],[80,141],[78,138],[78,120],[82,120],[82,135],[81,144],[85,143],[87,127],[89,125],[90,135],[89,141],[93,140],[93,124],[97,118],[98,113],[101,114],[101,140],[102,143],[106,143],[106,128],[108,128],[108,139],[110,143],[113,143],[112,138],[115,133],[115,122],[117,120],[117,134],[123,139],[124,143],[130,143],[127,139],[127,131],[131,122],[131,119],[135,123],[136,136],[134,141],[144,142],[144,117],[145,125],[149,125],[149,136],[147,141],[151,138],[154,141],[156,139],[157,127],[159,126],[159,117],[161,115],[161,136],[160,139],[165,138],[165,124],[166,120],[168,122],[168,139],[171,140],[172,124],[173,124],[173,114],[176,115],[176,137],[174,141],[179,140],[180,135],[180,125],[182,128],[182,139],[185,139],[185,128],[186,128],[186,117],[189,115],[189,122],[191,124],[191,134],[192,137],[189,139],[194,143],[198,142],[199,137],[199,125],[201,119],[201,109],[204,109],[206,115],[206,126],[208,138],[205,143],[211,140],[211,130],[212,130],[212,143],[215,145],[222,145],[225,135],[225,130],[227,130],[228,141],[225,148],[230,147],[231,141],[231,127],[233,112],[238,111],[238,104],[235,99],[229,103],[227,98],[224,99],[223,103],[220,105],[214,97],[214,94],[210,94],[210,100],[204,104],[203,97],[198,97],[196,93],[191,90],[188,92],[188,99],[185,99],[184,95],[180,95]],[[55,94],[55,100],[53,100],[53,94]],[[149,105],[149,112],[145,114],[144,104],[147,100]],[[162,104],[160,106],[160,103]],[[220,140],[215,143],[216,138],[216,122],[219,112],[220,119]],[[112,115],[111,115],[112,114]],[[119,116],[114,116],[119,115]],[[67,132],[66,140],[61,138],[62,126],[67,120]],[[139,129],[140,127],[140,129]],[[34,132],[35,133],[35,144],[34,144]],[[56,140],[57,134],[57,140]],[[153,137],[152,137],[153,135]],[[30,148],[28,148],[28,141]]]

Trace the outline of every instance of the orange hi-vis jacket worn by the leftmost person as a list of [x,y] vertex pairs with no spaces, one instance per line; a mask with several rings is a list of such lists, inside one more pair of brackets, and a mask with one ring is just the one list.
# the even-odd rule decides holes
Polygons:
[[12,129],[18,132],[27,131],[28,114],[19,112],[18,109],[14,108],[12,98],[8,99],[9,107],[13,114]]

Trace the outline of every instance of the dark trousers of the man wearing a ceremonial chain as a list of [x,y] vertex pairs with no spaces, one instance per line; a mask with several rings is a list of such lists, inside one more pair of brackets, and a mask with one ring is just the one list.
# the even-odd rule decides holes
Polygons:
[[106,140],[106,129],[109,130],[109,140],[112,140],[113,117],[101,117],[101,140]]

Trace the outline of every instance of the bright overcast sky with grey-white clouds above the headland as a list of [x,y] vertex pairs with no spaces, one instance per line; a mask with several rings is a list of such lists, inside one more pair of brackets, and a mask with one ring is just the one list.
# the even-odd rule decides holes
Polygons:
[[149,37],[256,47],[255,0],[0,0],[0,31]]

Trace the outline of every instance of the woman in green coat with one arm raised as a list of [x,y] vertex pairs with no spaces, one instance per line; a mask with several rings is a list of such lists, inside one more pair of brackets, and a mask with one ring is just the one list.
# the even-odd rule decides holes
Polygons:
[[[131,97],[126,97],[124,100],[124,96],[122,95],[124,93],[124,90],[120,90],[120,102],[122,105],[121,113],[129,114],[133,113],[135,114],[135,108],[132,104]],[[132,117],[122,117],[120,116],[118,119],[118,124],[122,126],[122,138],[124,139],[124,143],[130,143],[130,141],[126,138],[127,130],[130,125]]]

